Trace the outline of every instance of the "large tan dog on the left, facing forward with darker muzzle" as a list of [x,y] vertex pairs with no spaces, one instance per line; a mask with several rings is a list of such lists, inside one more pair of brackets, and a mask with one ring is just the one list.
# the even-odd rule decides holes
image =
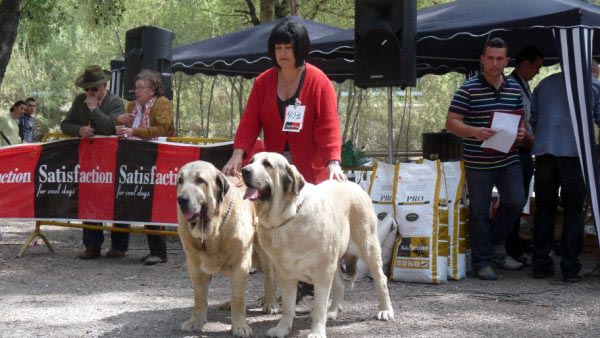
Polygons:
[[252,329],[246,322],[246,285],[252,266],[253,246],[261,257],[265,276],[263,312],[276,313],[272,265],[255,241],[255,215],[252,203],[242,199],[243,189],[212,164],[196,161],[181,168],[177,181],[177,218],[179,237],[194,285],[192,316],[181,324],[184,331],[202,330],[208,308],[211,276],[223,273],[231,286],[231,331],[248,337]]

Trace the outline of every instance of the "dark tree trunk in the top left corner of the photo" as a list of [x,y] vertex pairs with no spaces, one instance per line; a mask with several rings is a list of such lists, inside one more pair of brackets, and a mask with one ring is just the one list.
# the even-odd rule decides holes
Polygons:
[[0,0],[0,87],[12,55],[21,18],[21,0]]

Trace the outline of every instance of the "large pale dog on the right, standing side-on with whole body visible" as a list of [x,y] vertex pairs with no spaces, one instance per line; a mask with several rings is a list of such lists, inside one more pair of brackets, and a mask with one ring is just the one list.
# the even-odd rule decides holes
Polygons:
[[[380,320],[394,318],[381,268],[377,217],[371,198],[356,184],[306,183],[295,166],[276,153],[259,153],[242,169],[258,216],[258,238],[275,265],[281,285],[283,315],[270,337],[284,337],[292,327],[298,281],[315,286],[309,337],[325,337],[327,318],[336,319],[344,297],[340,260],[356,276],[356,256],[373,274]],[[333,284],[333,285],[332,285]],[[333,299],[327,310],[330,289]]]

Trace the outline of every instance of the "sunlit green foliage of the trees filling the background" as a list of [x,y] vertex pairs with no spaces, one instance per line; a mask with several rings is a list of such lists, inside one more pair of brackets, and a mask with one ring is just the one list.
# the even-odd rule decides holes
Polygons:
[[[290,12],[279,5],[276,15]],[[427,7],[448,0],[419,0]],[[354,25],[354,0],[303,0],[299,14],[325,24]],[[23,20],[0,91],[0,109],[8,111],[16,99],[34,96],[39,125],[51,131],[70,107],[78,88],[73,81],[88,64],[109,68],[123,57],[125,33],[155,25],[176,34],[174,46],[237,31],[256,24],[249,4],[260,0],[24,0]],[[394,88],[393,121],[388,122],[387,89],[359,89],[352,81],[335,84],[345,135],[361,150],[388,148],[388,124],[394,146],[420,149],[421,133],[439,131],[461,75],[426,76],[406,92]],[[174,74],[173,107],[180,136],[233,137],[252,87],[252,80]]]

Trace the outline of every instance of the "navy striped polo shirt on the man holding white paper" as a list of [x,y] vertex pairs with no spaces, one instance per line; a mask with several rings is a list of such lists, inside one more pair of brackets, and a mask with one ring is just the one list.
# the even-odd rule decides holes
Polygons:
[[[494,112],[512,113],[523,116],[523,99],[519,84],[503,77],[499,89],[489,84],[483,74],[467,80],[454,94],[451,113],[464,116],[463,122],[473,127],[490,127]],[[467,169],[496,169],[519,162],[516,147],[507,154],[482,148],[481,141],[463,137],[463,160]]]

